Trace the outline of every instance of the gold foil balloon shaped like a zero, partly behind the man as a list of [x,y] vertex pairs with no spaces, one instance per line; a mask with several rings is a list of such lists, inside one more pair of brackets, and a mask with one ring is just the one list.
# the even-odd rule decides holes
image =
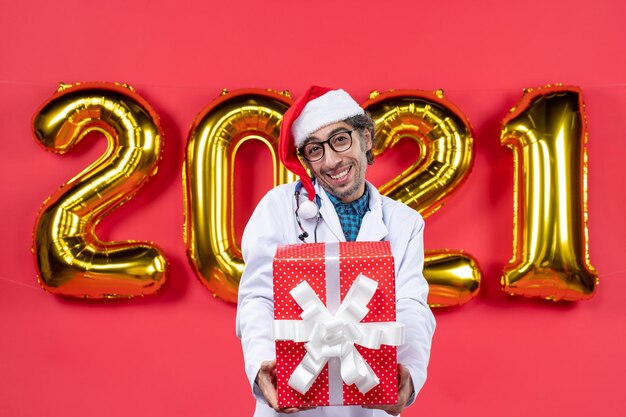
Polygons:
[[271,151],[274,185],[295,181],[278,160],[288,93],[247,89],[223,95],[194,120],[185,157],[185,244],[192,268],[217,297],[237,301],[243,271],[233,229],[233,172],[239,147],[259,140]]

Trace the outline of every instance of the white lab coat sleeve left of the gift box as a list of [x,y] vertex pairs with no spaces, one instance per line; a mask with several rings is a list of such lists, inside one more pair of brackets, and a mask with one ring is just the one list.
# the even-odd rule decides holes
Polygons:
[[[276,194],[276,193],[275,193]],[[245,262],[239,284],[236,332],[241,339],[245,371],[257,400],[265,401],[255,383],[261,362],[276,357],[272,338],[274,297],[272,261],[276,246],[284,243],[280,218],[286,215],[276,195],[266,195],[252,214],[242,237]],[[282,213],[285,211],[285,213]]]

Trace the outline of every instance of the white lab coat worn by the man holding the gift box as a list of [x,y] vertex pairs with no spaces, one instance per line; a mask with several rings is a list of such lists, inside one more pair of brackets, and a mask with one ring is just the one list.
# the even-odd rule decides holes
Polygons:
[[[370,210],[365,214],[357,241],[391,243],[395,261],[396,300],[398,322],[406,326],[405,344],[398,347],[398,362],[411,374],[415,392],[424,385],[430,345],[435,330],[435,319],[426,304],[428,284],[422,275],[424,264],[424,221],[413,209],[388,197],[381,196],[371,184]],[[345,242],[345,237],[332,202],[319,185],[321,220],[317,227],[318,242]],[[237,306],[237,336],[241,339],[245,370],[257,399],[256,417],[277,416],[255,384],[261,362],[274,359],[275,342],[272,339],[274,301],[272,295],[272,260],[277,245],[302,243],[302,233],[294,212],[295,183],[271,190],[256,207],[243,234],[242,251],[245,270],[239,285]],[[304,201],[306,192],[300,196]],[[314,242],[315,218],[301,219],[309,233],[307,242]],[[294,416],[388,416],[382,410],[362,407],[317,407]]]

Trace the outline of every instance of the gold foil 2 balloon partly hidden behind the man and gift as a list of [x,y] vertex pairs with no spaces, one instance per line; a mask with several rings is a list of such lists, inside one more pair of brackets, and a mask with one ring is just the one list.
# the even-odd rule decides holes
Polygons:
[[[380,187],[381,193],[413,207],[424,217],[434,213],[471,170],[473,135],[467,118],[441,90],[374,91],[363,107],[376,124],[375,154],[404,138],[419,146],[415,162]],[[478,264],[463,251],[427,253],[424,275],[432,306],[466,303],[480,288]]]

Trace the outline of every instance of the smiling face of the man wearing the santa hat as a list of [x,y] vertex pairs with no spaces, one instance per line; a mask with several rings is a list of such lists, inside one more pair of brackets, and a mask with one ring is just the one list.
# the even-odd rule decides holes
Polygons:
[[[345,122],[333,123],[315,131],[305,144],[323,142],[340,132],[354,128]],[[367,129],[353,130],[352,146],[344,152],[335,152],[328,144],[324,146],[324,156],[319,161],[308,162],[311,174],[320,185],[344,203],[352,202],[365,192],[365,171],[367,156],[365,152],[372,148],[372,140]]]

